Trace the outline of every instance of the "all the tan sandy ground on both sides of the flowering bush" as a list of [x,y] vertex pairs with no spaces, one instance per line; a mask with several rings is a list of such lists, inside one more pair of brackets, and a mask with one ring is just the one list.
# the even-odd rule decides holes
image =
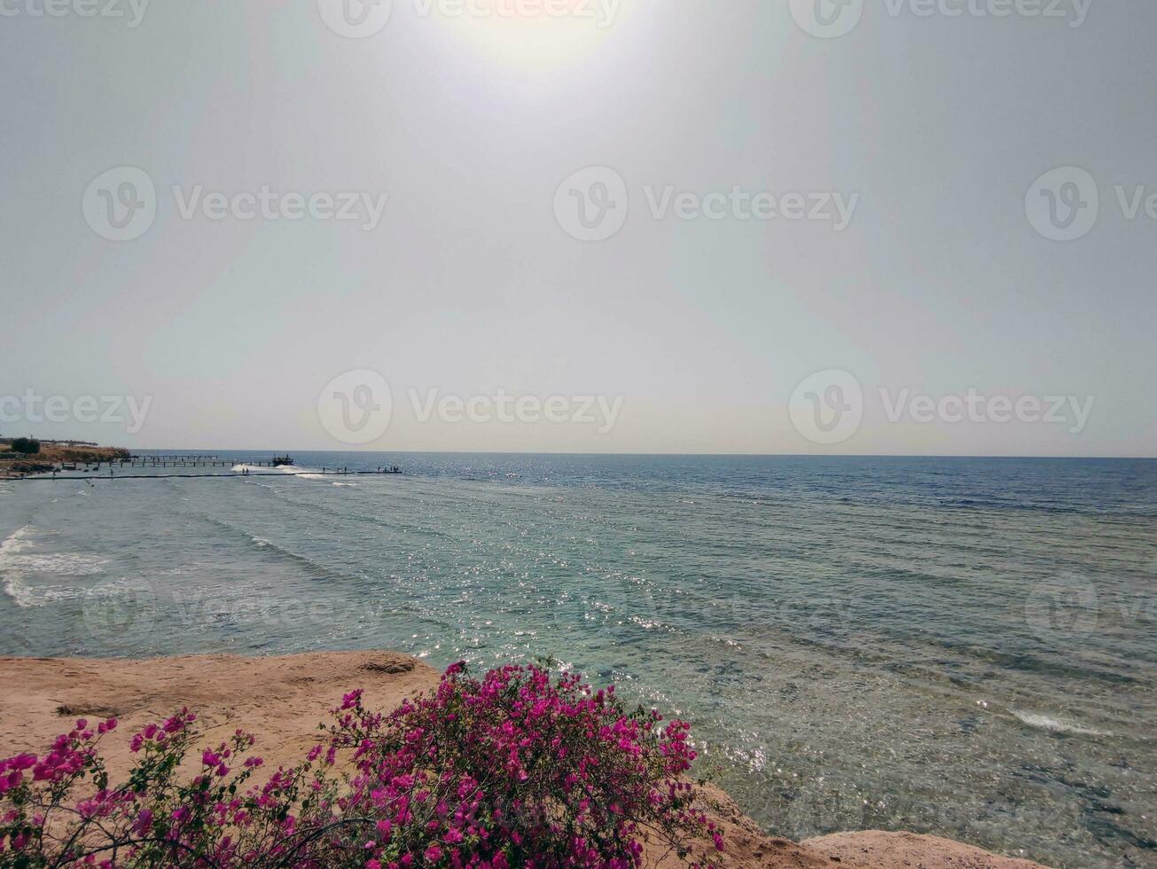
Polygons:
[[[437,672],[391,651],[311,653],[280,657],[207,655],[145,661],[0,657],[0,757],[43,752],[75,717],[117,717],[106,743],[113,779],[128,768],[128,736],[182,706],[198,714],[205,743],[238,727],[263,734],[255,748],[266,768],[296,763],[318,741],[318,723],[341,694],[364,688],[370,708],[391,708],[437,685]],[[1037,869],[1037,863],[988,854],[913,833],[839,833],[795,844],[766,835],[735,803],[708,787],[727,850],[703,844],[697,856],[721,867],[769,869]],[[648,849],[648,863],[680,864]]]

